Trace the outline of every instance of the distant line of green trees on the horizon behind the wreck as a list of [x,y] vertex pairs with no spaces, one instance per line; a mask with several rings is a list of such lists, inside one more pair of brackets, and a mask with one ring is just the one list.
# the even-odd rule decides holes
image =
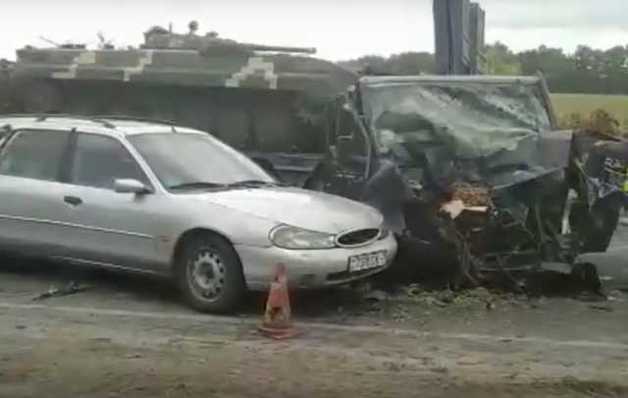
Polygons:
[[[484,70],[493,75],[544,73],[552,92],[628,94],[628,45],[608,50],[579,46],[573,54],[540,46],[514,52],[497,42],[484,49]],[[405,52],[390,57],[367,55],[339,62],[355,71],[384,75],[433,74],[434,54]]]

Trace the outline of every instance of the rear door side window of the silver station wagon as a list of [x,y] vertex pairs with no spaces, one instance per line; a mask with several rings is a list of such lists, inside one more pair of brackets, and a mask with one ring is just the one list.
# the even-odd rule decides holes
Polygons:
[[17,131],[0,154],[0,174],[57,181],[69,136],[68,131]]

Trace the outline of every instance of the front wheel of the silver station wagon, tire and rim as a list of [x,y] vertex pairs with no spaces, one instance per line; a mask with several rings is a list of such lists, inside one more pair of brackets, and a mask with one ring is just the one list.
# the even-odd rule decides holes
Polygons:
[[233,246],[214,234],[197,234],[183,244],[175,277],[187,303],[201,312],[233,312],[246,292]]

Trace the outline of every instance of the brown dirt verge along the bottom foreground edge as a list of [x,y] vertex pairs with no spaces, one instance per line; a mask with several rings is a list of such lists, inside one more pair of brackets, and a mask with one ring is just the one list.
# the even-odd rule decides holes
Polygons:
[[282,344],[173,342],[129,349],[107,339],[50,336],[0,368],[0,396],[31,397],[622,397],[628,389],[566,378],[469,383],[446,367],[356,361]]

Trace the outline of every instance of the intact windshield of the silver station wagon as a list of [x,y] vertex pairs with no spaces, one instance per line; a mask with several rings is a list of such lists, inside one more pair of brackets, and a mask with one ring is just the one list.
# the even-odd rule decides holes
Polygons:
[[129,141],[166,189],[274,182],[255,162],[209,135],[151,133]]

